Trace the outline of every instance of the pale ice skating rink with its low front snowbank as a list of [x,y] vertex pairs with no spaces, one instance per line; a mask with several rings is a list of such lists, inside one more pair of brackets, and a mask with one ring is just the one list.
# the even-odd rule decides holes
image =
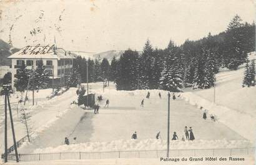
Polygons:
[[[31,143],[19,148],[20,153],[125,151],[166,149],[167,140],[167,92],[162,90],[117,91],[114,84],[102,91],[102,83],[91,83],[89,90],[102,95],[104,100],[99,114],[79,106],[67,111],[54,125],[37,133]],[[150,98],[145,98],[147,92]],[[74,92],[74,90],[73,90]],[[159,98],[158,93],[162,93]],[[75,93],[75,92],[74,92]],[[77,96],[74,94],[74,99]],[[72,93],[64,93],[70,97]],[[144,107],[140,101],[144,101]],[[109,99],[109,107],[104,107]],[[66,107],[67,105],[61,105]],[[195,141],[172,141],[171,149],[246,148],[252,144],[234,130],[220,122],[202,119],[202,111],[185,100],[170,100],[170,136],[177,132],[179,139],[184,135],[184,126],[192,126]],[[138,140],[131,138],[137,131]],[[160,140],[155,135],[160,131]],[[64,145],[68,137],[72,145]],[[76,137],[76,140],[74,138]],[[172,138],[172,137],[171,137]]]

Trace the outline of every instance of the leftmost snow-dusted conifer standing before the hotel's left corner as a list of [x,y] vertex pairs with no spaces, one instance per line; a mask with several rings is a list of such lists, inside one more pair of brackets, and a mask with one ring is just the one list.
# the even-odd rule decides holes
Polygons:
[[14,87],[17,91],[23,93],[29,82],[26,65],[24,63],[22,63],[21,68],[17,69],[17,74],[14,77],[16,78],[14,80]]

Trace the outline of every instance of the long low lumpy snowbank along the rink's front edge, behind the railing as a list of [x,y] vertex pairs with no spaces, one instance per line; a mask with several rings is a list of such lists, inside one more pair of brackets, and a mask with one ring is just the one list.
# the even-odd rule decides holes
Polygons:
[[[59,152],[97,152],[97,151],[137,151],[137,150],[164,150],[167,141],[162,139],[143,140],[116,140],[110,142],[88,142],[70,145],[61,145],[56,148],[36,149],[34,153]],[[246,148],[251,144],[247,140],[195,140],[170,141],[170,149],[217,149],[217,148]]]

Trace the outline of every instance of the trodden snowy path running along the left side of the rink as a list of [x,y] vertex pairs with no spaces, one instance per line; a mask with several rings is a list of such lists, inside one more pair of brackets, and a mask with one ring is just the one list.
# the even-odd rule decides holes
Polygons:
[[[32,125],[33,131],[40,132],[47,128],[50,123],[54,122],[58,116],[61,115],[63,111],[69,110],[70,103],[72,100],[76,100],[76,88],[70,88],[66,93],[60,95],[59,97],[55,97],[52,100],[42,101],[40,105],[36,105],[32,107],[32,117],[31,121],[29,121],[30,125]],[[9,123],[9,116],[7,118],[8,125],[8,146],[13,144],[11,128]],[[45,127],[42,127],[45,126]],[[14,130],[16,133],[16,140],[18,141],[22,137],[26,136],[26,131],[24,129],[24,125],[16,118],[14,120]],[[36,135],[36,134],[35,134]],[[0,137],[4,137],[4,126],[1,127]],[[4,138],[1,138],[0,141],[1,151],[4,149]]]

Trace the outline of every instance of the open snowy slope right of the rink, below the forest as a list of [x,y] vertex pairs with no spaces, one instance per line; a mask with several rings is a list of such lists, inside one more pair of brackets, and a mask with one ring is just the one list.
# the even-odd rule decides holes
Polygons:
[[[249,55],[256,59],[255,54]],[[192,105],[203,106],[232,130],[253,143],[256,136],[256,87],[242,87],[244,65],[238,70],[222,69],[216,75],[215,103],[214,88],[207,90],[185,89],[182,97]],[[203,109],[203,110],[204,110]]]

